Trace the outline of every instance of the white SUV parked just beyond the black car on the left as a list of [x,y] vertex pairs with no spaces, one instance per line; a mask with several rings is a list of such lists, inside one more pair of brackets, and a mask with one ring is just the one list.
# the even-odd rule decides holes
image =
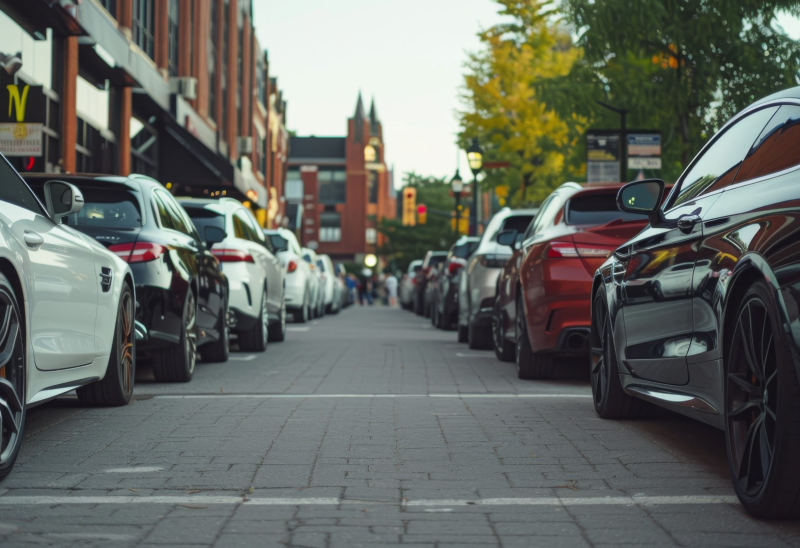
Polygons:
[[264,236],[253,214],[233,198],[182,199],[178,203],[189,214],[198,232],[216,229],[217,243],[211,253],[228,277],[229,326],[236,333],[239,349],[263,352],[268,341],[286,338],[286,302],[283,298],[284,270],[272,242]]

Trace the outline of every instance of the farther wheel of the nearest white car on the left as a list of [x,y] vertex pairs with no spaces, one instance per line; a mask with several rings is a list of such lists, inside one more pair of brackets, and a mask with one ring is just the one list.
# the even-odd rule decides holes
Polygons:
[[103,380],[78,388],[81,405],[127,405],[133,396],[136,377],[136,335],[133,330],[133,292],[128,284],[122,286],[117,308],[117,323]]

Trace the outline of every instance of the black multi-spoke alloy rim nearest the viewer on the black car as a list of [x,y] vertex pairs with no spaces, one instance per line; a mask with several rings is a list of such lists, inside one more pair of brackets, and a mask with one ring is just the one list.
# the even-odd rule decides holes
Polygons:
[[775,458],[778,364],[764,302],[750,298],[733,335],[726,398],[728,443],[735,479],[748,495],[764,485]]

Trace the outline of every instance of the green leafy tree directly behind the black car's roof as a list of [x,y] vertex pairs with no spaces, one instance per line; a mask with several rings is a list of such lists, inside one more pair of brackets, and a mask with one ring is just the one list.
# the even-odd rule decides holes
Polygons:
[[[675,178],[735,112],[797,85],[800,47],[774,26],[797,0],[565,0],[607,100],[655,126]],[[612,126],[613,127],[613,126]],[[679,136],[678,146],[671,137]]]

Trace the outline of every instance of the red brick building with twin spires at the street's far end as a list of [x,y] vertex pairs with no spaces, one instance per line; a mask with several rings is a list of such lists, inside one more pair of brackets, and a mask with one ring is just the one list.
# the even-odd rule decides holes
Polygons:
[[337,261],[362,262],[383,243],[379,219],[397,215],[375,102],[361,94],[346,137],[291,137],[284,197],[303,245]]

